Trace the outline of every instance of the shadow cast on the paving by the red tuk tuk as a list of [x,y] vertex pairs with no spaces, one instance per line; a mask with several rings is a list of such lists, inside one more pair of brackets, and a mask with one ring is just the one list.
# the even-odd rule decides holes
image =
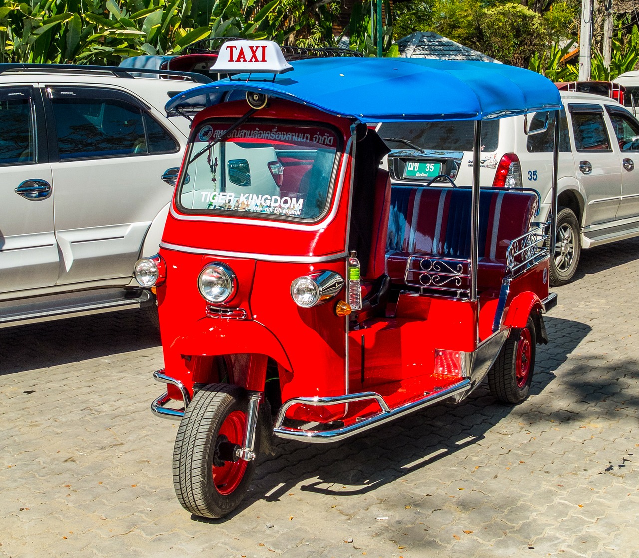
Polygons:
[[[551,382],[557,381],[555,371],[590,332],[587,325],[548,316],[546,327],[550,343],[537,346],[532,396],[539,396]],[[579,368],[571,366],[568,376],[562,371],[561,382],[569,386],[575,401],[585,392],[594,398],[592,404],[597,406],[605,400],[608,391],[604,386],[610,384],[614,372],[601,380],[593,378],[588,384],[580,384]],[[439,403],[343,442],[303,444],[278,440],[275,456],[263,457],[258,463],[252,495],[227,518],[206,521],[224,522],[256,500],[279,500],[300,483],[302,491],[336,497],[366,494],[481,442],[487,431],[512,412],[518,413],[524,423],[542,420],[538,407],[497,403],[484,382],[459,405]],[[547,414],[555,421],[570,420],[574,416],[561,408],[546,407],[544,413],[544,421],[549,420]],[[597,415],[601,415],[599,408]],[[193,519],[201,520],[195,516]]]

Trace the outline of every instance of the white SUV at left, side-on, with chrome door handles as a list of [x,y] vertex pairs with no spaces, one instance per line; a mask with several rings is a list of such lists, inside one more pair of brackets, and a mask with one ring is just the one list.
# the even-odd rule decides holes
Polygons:
[[210,80],[135,72],[0,65],[0,327],[152,302],[132,269],[157,251],[189,133],[164,104]]

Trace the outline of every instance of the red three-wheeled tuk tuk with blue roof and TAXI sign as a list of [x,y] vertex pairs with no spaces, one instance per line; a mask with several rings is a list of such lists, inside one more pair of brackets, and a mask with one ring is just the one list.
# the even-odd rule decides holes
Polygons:
[[482,119],[556,110],[557,88],[481,62],[291,66],[266,42],[225,43],[215,70],[250,74],[167,104],[194,115],[190,146],[160,251],[135,268],[157,292],[167,391],[151,409],[180,419],[184,508],[238,506],[273,435],[341,440],[485,376],[523,401],[556,302],[538,194],[480,189],[478,166],[471,186],[391,187],[367,124],[474,120],[480,160]]

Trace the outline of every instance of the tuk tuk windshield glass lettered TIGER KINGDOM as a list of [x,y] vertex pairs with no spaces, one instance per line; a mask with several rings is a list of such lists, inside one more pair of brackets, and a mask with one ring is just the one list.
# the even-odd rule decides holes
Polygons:
[[176,198],[184,212],[313,220],[327,210],[334,130],[208,121],[194,138]]

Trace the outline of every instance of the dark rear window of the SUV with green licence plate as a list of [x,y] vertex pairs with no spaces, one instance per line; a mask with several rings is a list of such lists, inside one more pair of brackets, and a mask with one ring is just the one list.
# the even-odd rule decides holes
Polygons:
[[[482,122],[481,132],[481,150],[497,151],[499,122]],[[472,151],[475,121],[391,122],[382,124],[378,133],[391,149],[408,146],[420,150]]]

